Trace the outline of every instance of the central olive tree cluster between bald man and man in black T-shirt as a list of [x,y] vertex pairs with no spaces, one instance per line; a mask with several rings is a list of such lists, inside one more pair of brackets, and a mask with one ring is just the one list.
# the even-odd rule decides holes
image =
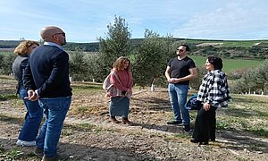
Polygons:
[[172,36],[160,37],[152,30],[145,30],[140,46],[132,48],[131,34],[124,19],[115,16],[114,24],[109,24],[107,28],[106,37],[98,38],[99,54],[85,55],[78,50],[71,54],[71,76],[74,80],[88,78],[102,81],[111,71],[116,58],[128,56],[138,85],[149,86],[155,80],[159,85],[165,84],[163,75],[167,61],[174,56],[174,49],[180,42],[174,41]]

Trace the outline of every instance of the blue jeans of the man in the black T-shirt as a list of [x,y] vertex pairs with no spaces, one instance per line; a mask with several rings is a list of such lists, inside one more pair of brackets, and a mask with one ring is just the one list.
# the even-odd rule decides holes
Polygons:
[[[190,123],[188,110],[184,107],[187,101],[187,93],[188,85],[169,83],[169,95],[171,99],[175,121],[182,121],[183,125],[189,125]],[[180,112],[182,114],[182,120]]]

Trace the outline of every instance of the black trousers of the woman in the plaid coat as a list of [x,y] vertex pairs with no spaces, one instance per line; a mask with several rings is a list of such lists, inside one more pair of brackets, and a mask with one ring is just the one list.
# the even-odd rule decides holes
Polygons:
[[216,109],[212,106],[208,111],[205,111],[202,106],[198,110],[193,139],[199,142],[215,140]]

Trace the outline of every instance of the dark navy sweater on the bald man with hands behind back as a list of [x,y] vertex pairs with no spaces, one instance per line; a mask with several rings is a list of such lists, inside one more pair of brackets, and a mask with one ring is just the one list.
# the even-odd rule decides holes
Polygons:
[[38,89],[39,97],[71,96],[69,55],[58,47],[37,47],[29,55],[23,84],[28,90]]

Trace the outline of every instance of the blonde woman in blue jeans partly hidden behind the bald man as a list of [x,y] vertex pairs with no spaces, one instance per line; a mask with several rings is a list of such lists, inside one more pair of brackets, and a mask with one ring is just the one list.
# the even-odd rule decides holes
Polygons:
[[15,48],[14,54],[17,55],[13,62],[13,75],[18,81],[17,94],[20,95],[21,99],[26,106],[27,113],[25,115],[25,122],[21,128],[17,145],[21,146],[35,146],[36,137],[38,135],[39,125],[43,118],[43,110],[38,105],[38,101],[29,101],[24,97],[28,97],[27,90],[23,86],[22,73],[28,63],[28,57],[31,51],[38,47],[39,44],[36,41],[23,41]]

